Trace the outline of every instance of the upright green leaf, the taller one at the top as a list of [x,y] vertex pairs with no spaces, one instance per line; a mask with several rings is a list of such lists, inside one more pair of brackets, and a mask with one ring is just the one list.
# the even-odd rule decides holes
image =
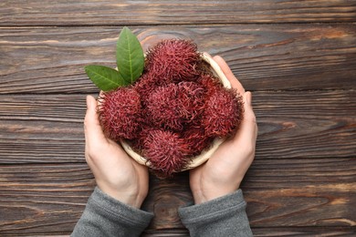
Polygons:
[[116,64],[125,81],[132,84],[143,71],[144,56],[140,41],[128,27],[123,27],[116,45]]

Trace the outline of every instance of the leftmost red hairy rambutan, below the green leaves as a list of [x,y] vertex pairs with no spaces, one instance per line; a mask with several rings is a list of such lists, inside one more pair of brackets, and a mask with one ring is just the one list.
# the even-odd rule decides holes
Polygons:
[[99,121],[105,135],[114,140],[135,139],[141,125],[141,100],[133,88],[104,92],[100,100]]

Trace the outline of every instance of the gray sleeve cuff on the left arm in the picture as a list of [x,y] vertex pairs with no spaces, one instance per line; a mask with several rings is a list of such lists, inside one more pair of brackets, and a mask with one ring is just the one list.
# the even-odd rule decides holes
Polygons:
[[140,236],[153,214],[111,198],[95,188],[70,236]]

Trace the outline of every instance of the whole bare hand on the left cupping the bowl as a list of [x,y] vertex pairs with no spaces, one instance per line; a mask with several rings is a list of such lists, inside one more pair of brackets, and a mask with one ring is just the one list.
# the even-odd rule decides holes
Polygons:
[[87,163],[101,191],[140,208],[148,193],[148,169],[132,160],[118,143],[105,137],[97,107],[96,99],[88,96],[84,120]]

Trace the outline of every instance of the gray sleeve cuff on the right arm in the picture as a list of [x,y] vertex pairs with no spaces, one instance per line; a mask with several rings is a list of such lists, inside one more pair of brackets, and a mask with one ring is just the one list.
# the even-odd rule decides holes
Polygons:
[[253,236],[242,191],[183,207],[179,215],[191,236]]

